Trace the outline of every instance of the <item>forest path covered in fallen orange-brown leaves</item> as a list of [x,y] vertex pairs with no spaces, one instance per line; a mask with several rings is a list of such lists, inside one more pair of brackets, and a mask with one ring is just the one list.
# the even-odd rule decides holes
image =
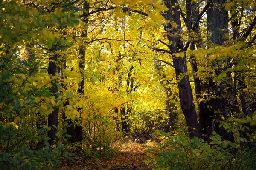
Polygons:
[[151,170],[144,160],[146,148],[138,144],[122,145],[120,152],[111,159],[93,159],[87,156],[74,157],[58,170]]

